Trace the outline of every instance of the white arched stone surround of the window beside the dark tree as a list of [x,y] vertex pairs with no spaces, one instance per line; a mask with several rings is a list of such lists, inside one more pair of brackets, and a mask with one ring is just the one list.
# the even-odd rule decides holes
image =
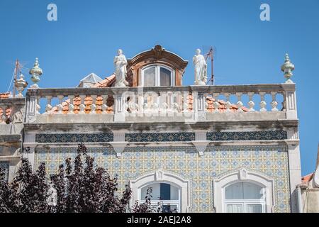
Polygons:
[[[155,172],[150,172],[146,175],[142,175],[135,180],[130,180],[130,188],[132,189],[132,198],[130,199],[130,206],[135,204],[135,201],[144,202],[144,198],[140,198],[141,189],[150,184],[156,183],[166,183],[171,184],[174,187],[179,189],[179,201],[175,200],[161,200],[163,203],[167,202],[167,204],[178,204],[178,209],[180,213],[190,212],[190,201],[191,201],[191,192],[190,192],[190,181],[187,179],[183,179],[178,175],[175,175],[171,172],[166,172],[164,170],[156,170]],[[157,200],[151,200],[152,204],[158,203]]]

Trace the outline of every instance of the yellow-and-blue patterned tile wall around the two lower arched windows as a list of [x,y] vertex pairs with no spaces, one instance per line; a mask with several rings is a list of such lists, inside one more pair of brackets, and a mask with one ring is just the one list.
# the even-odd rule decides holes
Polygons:
[[[274,212],[290,211],[289,165],[286,146],[208,146],[203,156],[198,156],[191,146],[130,147],[117,158],[113,148],[89,148],[97,165],[118,175],[123,187],[131,179],[155,170],[166,170],[191,184],[191,211],[213,212],[213,179],[227,172],[245,167],[274,179]],[[47,173],[57,172],[66,157],[75,157],[76,148],[36,148],[35,167],[47,163]]]

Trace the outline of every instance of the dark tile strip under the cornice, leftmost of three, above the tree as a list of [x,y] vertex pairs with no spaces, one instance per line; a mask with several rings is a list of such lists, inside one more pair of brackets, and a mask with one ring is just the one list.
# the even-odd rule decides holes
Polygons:
[[113,141],[113,133],[37,134],[38,143],[94,143]]

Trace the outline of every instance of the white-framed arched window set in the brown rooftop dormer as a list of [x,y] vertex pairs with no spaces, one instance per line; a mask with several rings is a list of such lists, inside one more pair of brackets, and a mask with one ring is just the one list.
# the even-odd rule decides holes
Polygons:
[[174,70],[164,65],[149,65],[141,70],[140,86],[159,87],[174,86]]

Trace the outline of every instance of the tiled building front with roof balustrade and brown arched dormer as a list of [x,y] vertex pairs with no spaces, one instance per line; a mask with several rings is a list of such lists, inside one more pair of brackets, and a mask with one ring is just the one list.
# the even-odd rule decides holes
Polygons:
[[50,174],[84,143],[120,187],[129,182],[131,204],[152,187],[154,204],[179,212],[297,212],[296,84],[183,86],[187,65],[156,45],[127,60],[127,87],[94,74],[85,86],[1,99],[9,181],[21,155]]

